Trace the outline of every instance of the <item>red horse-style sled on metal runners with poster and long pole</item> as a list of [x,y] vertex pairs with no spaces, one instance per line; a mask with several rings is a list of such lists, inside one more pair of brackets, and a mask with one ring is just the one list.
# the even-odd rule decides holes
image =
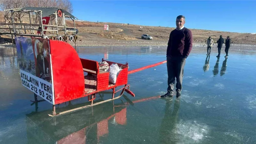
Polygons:
[[[102,62],[105,61],[108,63],[108,67],[111,64],[117,64],[118,67],[121,68],[116,77],[116,83],[113,84],[109,82],[110,73],[101,70],[101,66],[104,65],[99,65],[98,61],[95,60],[79,58],[76,50],[66,42],[30,37],[15,37],[15,40],[22,85],[35,93],[34,102],[38,102],[37,96],[40,96],[53,105],[52,114],[48,114],[49,116],[59,116],[82,108],[88,108],[115,100],[120,98],[124,92],[127,92],[134,97],[135,94],[131,92],[130,85],[127,83],[128,74],[155,67],[166,62],[162,61],[128,71],[128,62],[122,64],[102,59]],[[32,63],[30,64],[32,67],[29,67],[29,71],[29,64],[26,62],[28,58],[24,58],[24,54],[22,54],[25,51],[25,48],[28,47],[27,44],[30,44],[27,43],[27,41],[32,41],[34,49],[39,47],[38,53],[34,54],[37,56],[35,57],[35,67],[33,67],[33,59],[29,60],[30,63]],[[48,59],[44,59],[44,57],[47,57]],[[46,62],[47,60],[50,60],[48,61],[49,63]],[[34,75],[33,68],[36,69],[39,76]],[[84,75],[84,72],[86,72],[87,75]],[[117,89],[117,87],[120,88]],[[112,90],[111,98],[93,103],[98,92],[107,90]],[[119,91],[121,91],[121,93],[115,97],[116,92]],[[90,105],[56,113],[55,105],[86,96],[91,102]]]

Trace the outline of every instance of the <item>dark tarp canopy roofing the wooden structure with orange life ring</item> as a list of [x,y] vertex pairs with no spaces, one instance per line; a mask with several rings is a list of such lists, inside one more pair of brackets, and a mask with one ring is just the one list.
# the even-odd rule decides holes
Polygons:
[[42,11],[42,17],[47,17],[52,15],[53,13],[55,13],[56,11],[60,10],[61,12],[64,12],[65,15],[71,17],[71,18],[76,18],[75,16],[73,16],[72,14],[70,14],[69,12],[62,10],[60,8],[57,7],[24,7],[21,8],[20,10],[32,10],[32,11]]

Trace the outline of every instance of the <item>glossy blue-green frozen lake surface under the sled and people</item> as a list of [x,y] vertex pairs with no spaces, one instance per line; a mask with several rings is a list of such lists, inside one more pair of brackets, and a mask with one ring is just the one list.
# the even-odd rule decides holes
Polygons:
[[[21,85],[16,48],[0,48],[0,143],[255,143],[256,47],[225,47],[210,58],[194,47],[184,70],[182,96],[160,99],[167,90],[166,64],[128,76],[135,97],[124,97],[63,116],[52,105],[32,104]],[[166,60],[166,47],[78,47],[81,58],[129,63],[129,70]],[[108,92],[97,99],[111,97]],[[85,105],[86,98],[59,108]],[[57,106],[58,109],[58,106]]]

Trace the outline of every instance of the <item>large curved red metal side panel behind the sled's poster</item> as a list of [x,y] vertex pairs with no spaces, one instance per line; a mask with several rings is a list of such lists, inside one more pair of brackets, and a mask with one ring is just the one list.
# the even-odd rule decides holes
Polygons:
[[84,94],[84,71],[78,54],[68,43],[50,40],[55,104]]

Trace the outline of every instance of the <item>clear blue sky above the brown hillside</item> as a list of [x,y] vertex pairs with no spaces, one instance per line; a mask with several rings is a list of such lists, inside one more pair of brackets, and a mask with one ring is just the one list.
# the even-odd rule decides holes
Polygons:
[[256,33],[256,0],[71,0],[79,20]]

